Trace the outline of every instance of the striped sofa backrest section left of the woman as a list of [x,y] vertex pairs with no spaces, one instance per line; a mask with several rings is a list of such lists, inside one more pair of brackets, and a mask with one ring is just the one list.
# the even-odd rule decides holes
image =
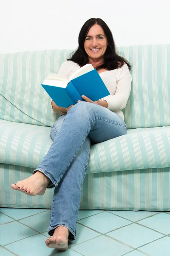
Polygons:
[[52,126],[59,116],[41,83],[57,73],[71,50],[45,50],[0,55],[0,119]]

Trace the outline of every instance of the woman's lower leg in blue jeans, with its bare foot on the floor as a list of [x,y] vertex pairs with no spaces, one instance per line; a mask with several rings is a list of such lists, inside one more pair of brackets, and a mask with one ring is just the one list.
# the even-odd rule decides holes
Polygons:
[[51,221],[48,228],[48,234],[54,238],[46,239],[45,243],[48,247],[65,248],[66,250],[68,239],[75,239],[82,183],[88,166],[90,144],[90,139],[87,137],[54,190]]

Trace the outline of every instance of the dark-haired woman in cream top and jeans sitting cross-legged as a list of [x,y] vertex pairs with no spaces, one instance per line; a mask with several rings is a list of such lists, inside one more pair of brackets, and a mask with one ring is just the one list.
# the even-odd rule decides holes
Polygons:
[[130,64],[116,54],[112,33],[99,18],[91,18],[82,26],[79,47],[62,64],[58,74],[69,78],[87,63],[96,68],[111,95],[96,102],[82,96],[85,102],[79,101],[67,109],[52,101],[53,110],[62,114],[51,129],[54,143],[34,175],[11,185],[28,195],[43,195],[46,188],[55,187],[48,228],[51,237],[45,243],[58,250],[66,250],[68,239],[74,240],[76,236],[91,143],[127,132],[121,110],[130,95]]

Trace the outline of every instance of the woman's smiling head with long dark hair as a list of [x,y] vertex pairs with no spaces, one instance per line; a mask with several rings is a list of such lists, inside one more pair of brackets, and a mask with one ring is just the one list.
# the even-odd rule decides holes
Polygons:
[[80,67],[91,63],[96,70],[114,70],[130,64],[125,58],[117,55],[113,35],[108,25],[100,18],[87,20],[79,32],[79,46],[73,56],[68,58]]

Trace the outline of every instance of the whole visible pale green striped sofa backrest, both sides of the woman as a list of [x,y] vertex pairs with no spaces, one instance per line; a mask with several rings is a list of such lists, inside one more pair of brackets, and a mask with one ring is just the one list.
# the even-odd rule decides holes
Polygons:
[[[58,114],[40,85],[73,50],[0,55],[0,119],[52,126]],[[127,128],[170,125],[170,45],[117,48],[132,65],[132,90],[124,110]]]

